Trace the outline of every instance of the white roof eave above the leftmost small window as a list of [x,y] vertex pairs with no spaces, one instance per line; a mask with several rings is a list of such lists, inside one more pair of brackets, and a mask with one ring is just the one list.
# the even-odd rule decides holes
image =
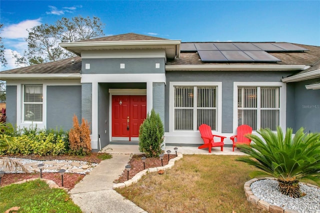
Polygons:
[[0,74],[0,80],[18,79],[81,79],[81,74]]

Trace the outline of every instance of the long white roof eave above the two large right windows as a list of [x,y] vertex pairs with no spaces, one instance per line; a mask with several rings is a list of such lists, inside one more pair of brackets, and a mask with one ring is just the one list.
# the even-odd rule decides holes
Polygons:
[[199,64],[165,65],[166,71],[297,71],[305,65],[258,65],[258,64]]

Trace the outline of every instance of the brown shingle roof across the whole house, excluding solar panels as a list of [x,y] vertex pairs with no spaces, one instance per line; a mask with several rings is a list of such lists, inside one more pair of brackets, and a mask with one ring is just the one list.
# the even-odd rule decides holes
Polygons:
[[[112,35],[100,38],[93,38],[85,41],[119,41],[119,40],[166,40],[153,36],[141,35],[136,33],[126,33],[119,35]],[[279,58],[281,61],[271,64],[279,65],[310,65],[311,67],[303,70],[303,72],[311,71],[320,68],[320,46],[295,44],[303,48],[309,49],[304,52],[269,52],[269,54]],[[74,63],[71,63],[74,59]],[[167,65],[199,65],[199,64],[221,64],[218,62],[208,63],[200,60],[196,52],[181,52],[180,57],[175,59],[168,59]],[[270,63],[223,63],[223,64],[270,64]],[[81,57],[71,57],[63,60],[37,64],[27,67],[14,68],[1,73],[7,74],[52,74],[52,73],[81,73]]]

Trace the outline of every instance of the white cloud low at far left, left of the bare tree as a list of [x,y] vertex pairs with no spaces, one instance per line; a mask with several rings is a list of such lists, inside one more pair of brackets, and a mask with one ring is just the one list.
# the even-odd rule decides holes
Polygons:
[[14,39],[14,38],[25,38],[28,36],[28,31],[33,26],[40,25],[40,18],[34,20],[24,20],[19,23],[11,24],[3,27],[1,36],[4,38]]

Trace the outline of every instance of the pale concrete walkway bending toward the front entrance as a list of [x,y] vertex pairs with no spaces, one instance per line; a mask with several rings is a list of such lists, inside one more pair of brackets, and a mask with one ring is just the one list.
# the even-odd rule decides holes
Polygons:
[[122,173],[129,158],[129,154],[112,154],[111,159],[101,161],[69,191],[73,202],[83,212],[146,212],[112,189],[113,180]]

